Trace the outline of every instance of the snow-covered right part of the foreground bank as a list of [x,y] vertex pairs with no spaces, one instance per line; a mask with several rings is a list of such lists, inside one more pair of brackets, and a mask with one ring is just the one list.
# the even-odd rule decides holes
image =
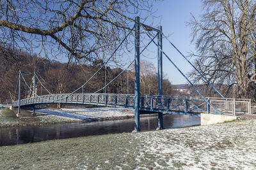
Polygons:
[[[143,141],[138,169],[255,169],[256,120],[136,134]],[[149,156],[148,156],[149,155]]]

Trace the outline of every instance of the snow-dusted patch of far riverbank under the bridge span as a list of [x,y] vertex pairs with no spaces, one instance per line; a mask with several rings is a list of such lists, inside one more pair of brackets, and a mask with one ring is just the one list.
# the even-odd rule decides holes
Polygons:
[[122,108],[61,108],[61,109],[42,109],[36,110],[36,112],[46,113],[47,115],[40,115],[42,121],[52,119],[52,121],[58,121],[61,118],[61,122],[64,120],[70,120],[72,122],[79,122],[83,120],[92,120],[100,118],[114,118],[114,117],[127,117],[133,116],[133,110],[127,110]]

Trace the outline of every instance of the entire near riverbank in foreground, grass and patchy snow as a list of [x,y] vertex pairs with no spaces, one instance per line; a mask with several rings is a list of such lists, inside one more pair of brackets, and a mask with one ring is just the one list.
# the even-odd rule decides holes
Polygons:
[[2,146],[3,169],[255,169],[256,120]]

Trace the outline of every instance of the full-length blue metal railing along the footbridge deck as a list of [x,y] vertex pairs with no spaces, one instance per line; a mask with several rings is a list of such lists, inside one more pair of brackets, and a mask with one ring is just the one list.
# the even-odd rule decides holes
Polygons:
[[[204,99],[179,98],[168,96],[140,96],[140,108],[148,111],[182,111],[189,113],[251,113],[250,99],[207,98],[212,108]],[[125,94],[53,94],[31,97],[20,100],[20,106],[42,103],[77,103],[95,104],[99,106],[115,106],[134,108],[134,95]],[[13,107],[19,106],[19,101],[13,102]]]

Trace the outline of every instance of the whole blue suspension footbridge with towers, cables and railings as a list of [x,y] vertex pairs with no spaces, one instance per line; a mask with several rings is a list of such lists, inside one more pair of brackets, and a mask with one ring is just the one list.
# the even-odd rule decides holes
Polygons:
[[[211,82],[207,80],[207,78],[196,69],[195,66],[177,49],[173,43],[164,36],[162,32],[162,27],[159,26],[157,28],[150,27],[145,24],[140,23],[140,18],[136,17],[134,20],[134,27],[131,29],[131,32],[134,32],[134,94],[106,94],[104,90],[110,83],[112,83],[120,74],[124,73],[125,70],[131,66],[129,64],[126,69],[124,69],[120,74],[118,74],[113,80],[109,81],[109,83],[105,83],[105,86],[102,89],[97,90],[94,93],[78,93],[79,89],[83,89],[84,85],[88,83],[88,81],[92,80],[93,76],[97,74],[102,67],[106,66],[111,57],[115,54],[115,52],[120,48],[122,43],[124,43],[127,36],[125,36],[124,40],[118,45],[116,50],[112,53],[104,65],[100,67],[91,78],[89,78],[81,87],[74,92],[69,94],[51,94],[49,90],[47,90],[38,76],[33,73],[33,89],[26,83],[26,80],[23,76],[24,71],[19,71],[19,99],[17,101],[13,101],[12,107],[18,108],[18,116],[20,114],[21,107],[33,107],[33,113],[35,113],[35,106],[40,104],[52,104],[52,103],[60,103],[60,104],[92,104],[97,106],[110,106],[110,107],[120,107],[120,108],[132,108],[134,109],[134,131],[140,131],[140,114],[143,113],[158,113],[158,127],[163,128],[163,113],[170,114],[179,114],[179,115],[192,115],[200,117],[200,113],[208,113],[208,114],[228,114],[228,115],[236,115],[236,113],[251,113],[251,101],[250,99],[230,99],[225,98]],[[140,29],[143,29],[147,32],[148,38],[150,38],[150,42],[140,50]],[[150,32],[156,32],[153,36]],[[154,40],[157,38],[157,42]],[[195,87],[195,85],[189,80],[189,78],[182,73],[182,71],[175,65],[173,60],[163,51],[163,39],[167,39],[175,50],[177,50],[180,55],[202,76],[202,78],[207,81],[207,83],[214,89],[220,97],[205,97],[202,93]],[[158,66],[158,93],[157,96],[143,96],[140,94],[140,54],[147,48],[150,43],[154,43],[157,46],[157,66]],[[179,73],[186,78],[191,87],[195,89],[200,97],[173,97],[173,96],[163,96],[163,55],[170,61],[170,63],[179,71]],[[31,73],[29,73],[31,74]],[[24,81],[26,87],[29,90],[33,91],[33,96],[21,99],[20,97],[20,86],[21,82]],[[38,81],[42,87],[44,87],[49,94],[47,95],[38,95],[36,94],[36,81]],[[99,93],[104,90],[105,93]]]

